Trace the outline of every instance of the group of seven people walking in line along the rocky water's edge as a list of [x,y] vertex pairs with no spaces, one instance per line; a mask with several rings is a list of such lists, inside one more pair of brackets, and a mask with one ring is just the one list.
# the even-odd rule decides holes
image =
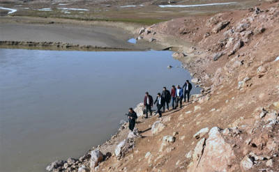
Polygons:
[[[184,91],[183,88],[185,87]],[[182,102],[184,98],[184,102],[186,102],[186,97],[187,97],[187,102],[189,102],[190,99],[190,91],[192,90],[192,84],[187,80],[183,87],[177,85],[172,86],[172,91],[169,92],[166,87],[163,88],[162,93],[158,93],[155,102],[153,102],[153,97],[149,95],[148,92],[145,93],[144,97],[144,107],[146,109],[146,117],[148,118],[148,114],[152,116],[152,110],[151,108],[153,107],[153,104],[156,104],[157,109],[158,109],[158,114],[159,117],[162,117],[162,112],[161,109],[163,108],[163,112],[165,112],[165,105],[167,105],[167,111],[169,111],[169,103],[172,102],[172,109],[177,109],[180,105],[180,108],[182,108]],[[131,131],[134,130],[135,127],[135,120],[137,119],[137,114],[135,111],[133,111],[132,108],[129,109],[129,129]]]

